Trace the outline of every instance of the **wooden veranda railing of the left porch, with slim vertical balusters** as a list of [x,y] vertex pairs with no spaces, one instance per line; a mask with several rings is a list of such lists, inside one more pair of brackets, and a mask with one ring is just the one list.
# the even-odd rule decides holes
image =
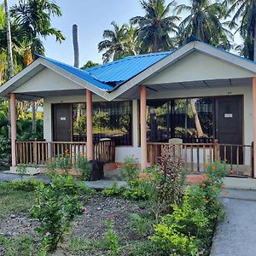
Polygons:
[[[86,158],[86,143],[79,142],[16,142],[17,164],[45,166],[55,157],[68,154],[73,164],[79,157]],[[111,140],[94,143],[95,160],[111,163],[115,160],[115,145]]]

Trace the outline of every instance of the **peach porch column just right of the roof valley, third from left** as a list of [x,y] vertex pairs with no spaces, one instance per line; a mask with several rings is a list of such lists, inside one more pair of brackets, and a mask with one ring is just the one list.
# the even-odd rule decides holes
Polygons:
[[147,88],[141,87],[141,168],[142,171],[147,167]]

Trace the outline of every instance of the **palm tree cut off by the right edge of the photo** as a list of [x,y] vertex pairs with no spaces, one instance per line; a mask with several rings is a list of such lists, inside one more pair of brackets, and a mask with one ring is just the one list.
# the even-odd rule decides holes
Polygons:
[[238,28],[236,31],[244,39],[243,55],[256,61],[256,1],[225,0],[224,5],[229,7],[227,16],[234,14],[230,20],[230,28]]

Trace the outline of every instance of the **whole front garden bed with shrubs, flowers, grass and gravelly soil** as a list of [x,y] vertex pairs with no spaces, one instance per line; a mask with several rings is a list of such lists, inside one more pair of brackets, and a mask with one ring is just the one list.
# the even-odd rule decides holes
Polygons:
[[209,255],[225,166],[212,163],[184,189],[171,149],[145,170],[150,178],[126,158],[119,171],[128,187],[96,192],[55,172],[49,184],[0,183],[0,255]]

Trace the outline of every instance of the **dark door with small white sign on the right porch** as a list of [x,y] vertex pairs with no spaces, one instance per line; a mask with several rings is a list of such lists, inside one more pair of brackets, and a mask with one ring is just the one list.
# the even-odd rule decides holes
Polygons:
[[[216,99],[216,137],[221,144],[242,144],[242,96],[227,96]],[[222,160],[228,163],[242,163],[242,150],[237,159],[236,146],[220,147]]]

